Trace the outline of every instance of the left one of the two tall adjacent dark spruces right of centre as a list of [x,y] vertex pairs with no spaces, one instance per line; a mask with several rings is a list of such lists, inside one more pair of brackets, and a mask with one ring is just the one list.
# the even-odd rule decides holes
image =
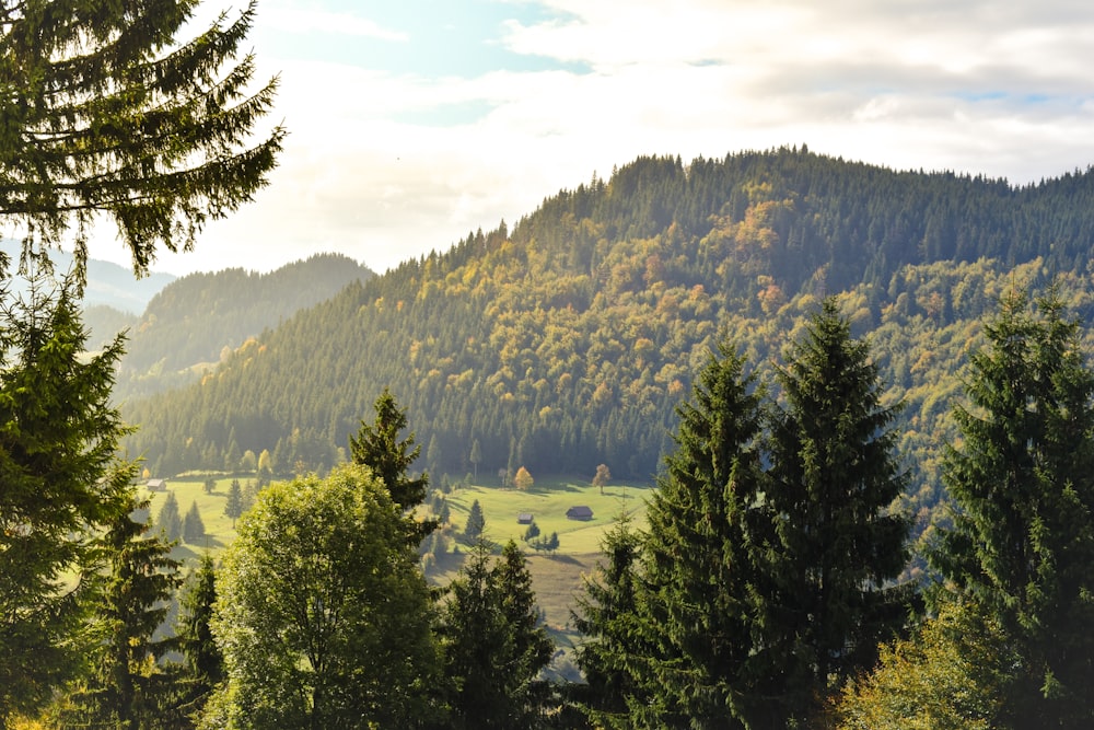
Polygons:
[[755,712],[753,541],[764,534],[753,525],[763,493],[760,397],[744,359],[722,344],[677,414],[676,450],[647,510],[638,603],[648,654],[631,665],[648,702],[635,707],[633,721],[737,727],[735,718]]

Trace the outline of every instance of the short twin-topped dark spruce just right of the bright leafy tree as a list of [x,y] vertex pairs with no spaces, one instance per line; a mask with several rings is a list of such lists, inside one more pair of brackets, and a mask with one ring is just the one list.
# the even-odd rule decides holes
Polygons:
[[494,563],[479,541],[449,591],[440,631],[451,727],[535,727],[543,698],[534,681],[552,646],[537,625],[523,554],[510,541]]

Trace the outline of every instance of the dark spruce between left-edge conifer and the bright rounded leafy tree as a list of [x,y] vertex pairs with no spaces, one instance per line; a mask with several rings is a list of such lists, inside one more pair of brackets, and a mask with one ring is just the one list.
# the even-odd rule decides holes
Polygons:
[[[148,502],[133,499],[131,506]],[[174,727],[182,717],[177,676],[158,664],[175,641],[154,636],[179,583],[178,563],[170,557],[170,544],[148,533],[148,525],[127,513],[105,537],[109,572],[97,609],[102,644],[91,680],[73,694],[70,725],[138,730]]]

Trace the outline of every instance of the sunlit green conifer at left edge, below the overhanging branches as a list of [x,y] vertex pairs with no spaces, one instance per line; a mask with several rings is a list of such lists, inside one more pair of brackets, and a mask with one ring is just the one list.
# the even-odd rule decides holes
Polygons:
[[71,285],[32,285],[25,300],[0,292],[0,726],[79,667],[93,531],[128,508],[136,473],[115,460],[120,340],[86,356]]

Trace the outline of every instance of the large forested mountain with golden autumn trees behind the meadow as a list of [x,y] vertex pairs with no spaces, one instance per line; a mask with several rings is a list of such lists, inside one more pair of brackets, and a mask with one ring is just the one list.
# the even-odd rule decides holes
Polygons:
[[911,497],[931,503],[978,317],[1010,286],[1058,279],[1090,320],[1092,204],[1090,171],[1014,187],[804,148],[639,159],[511,231],[350,285],[200,383],[127,405],[130,450],[156,473],[266,449],[282,473],[324,468],[389,386],[434,473],[591,477],[606,463],[649,479],[720,334],[766,370],[818,298],[842,292],[886,397],[905,402]]

